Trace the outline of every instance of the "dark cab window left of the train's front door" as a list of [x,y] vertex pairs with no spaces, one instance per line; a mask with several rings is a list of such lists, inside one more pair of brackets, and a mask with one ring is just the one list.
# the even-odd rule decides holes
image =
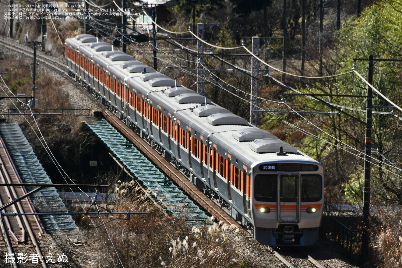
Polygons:
[[258,174],[254,178],[254,198],[262,202],[277,201],[277,175]]

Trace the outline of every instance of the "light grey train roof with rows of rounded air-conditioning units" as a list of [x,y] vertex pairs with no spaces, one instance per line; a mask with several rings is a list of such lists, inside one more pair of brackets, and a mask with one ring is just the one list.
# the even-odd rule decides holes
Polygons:
[[[162,113],[179,123],[183,129],[191,131],[204,143],[209,138],[210,146],[216,147],[218,153],[236,155],[236,162],[240,160],[248,166],[267,161],[306,161],[319,164],[289,143],[250,125],[242,117],[214,104],[205,96],[180,86],[168,76],[156,72],[126,53],[109,49],[111,45],[94,41],[91,37],[79,35],[67,39],[66,44],[85,55],[91,55],[94,63],[105,67],[109,75],[124,81],[130,90],[142,93],[154,108],[160,108]],[[104,50],[98,51],[98,48]],[[277,153],[279,147],[282,147],[284,153]]]

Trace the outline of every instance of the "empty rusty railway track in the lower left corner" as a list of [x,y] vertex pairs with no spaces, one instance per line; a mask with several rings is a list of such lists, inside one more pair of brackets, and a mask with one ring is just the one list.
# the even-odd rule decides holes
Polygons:
[[[4,146],[3,140],[0,138],[0,180],[1,183],[18,183],[21,184],[21,180],[18,177],[16,170],[11,162],[10,156]],[[0,206],[9,203],[19,196],[25,194],[25,188],[23,186],[4,187],[0,190]],[[6,209],[1,211],[2,213],[35,213],[35,209],[27,198],[10,205]],[[5,261],[9,267],[43,267],[47,268],[45,256],[42,254],[37,237],[43,234],[43,227],[36,216],[15,216],[1,217],[1,240],[0,243],[5,245]],[[32,249],[34,252],[32,252]],[[23,250],[21,252],[21,250]],[[29,251],[29,252],[28,252]],[[6,255],[7,254],[7,255]],[[12,256],[17,258],[18,254],[23,254],[23,260],[27,263],[31,256],[31,262],[27,265],[23,264],[23,260],[18,263],[17,259],[13,259]],[[27,254],[27,255],[24,255]],[[31,254],[31,255],[30,255]],[[8,259],[6,258],[8,256]],[[35,256],[35,258],[32,258]],[[26,258],[24,258],[26,257]],[[35,260],[38,260],[35,263]]]

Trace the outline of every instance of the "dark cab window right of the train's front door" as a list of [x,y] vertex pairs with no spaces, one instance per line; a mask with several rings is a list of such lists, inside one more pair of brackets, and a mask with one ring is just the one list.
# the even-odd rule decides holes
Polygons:
[[320,175],[301,175],[301,202],[318,202],[322,198]]

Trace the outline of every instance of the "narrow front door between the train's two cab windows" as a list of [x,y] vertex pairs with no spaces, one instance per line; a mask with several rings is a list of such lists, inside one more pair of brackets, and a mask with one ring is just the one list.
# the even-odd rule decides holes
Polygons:
[[282,173],[278,178],[278,222],[300,221],[300,175]]

